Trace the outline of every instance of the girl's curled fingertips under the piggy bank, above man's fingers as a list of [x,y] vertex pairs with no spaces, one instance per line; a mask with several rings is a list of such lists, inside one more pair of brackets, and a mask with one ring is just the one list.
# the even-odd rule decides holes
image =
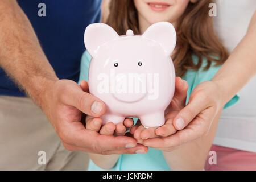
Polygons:
[[87,116],[85,119],[86,122],[86,129],[96,131],[102,135],[125,135],[126,129],[133,126],[133,119],[125,119],[123,123],[118,123],[115,125],[113,122],[108,122],[106,125],[102,125],[101,118],[94,118]]

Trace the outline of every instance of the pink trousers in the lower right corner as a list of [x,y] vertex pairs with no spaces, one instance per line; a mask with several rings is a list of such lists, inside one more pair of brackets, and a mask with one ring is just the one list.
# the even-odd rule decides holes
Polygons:
[[211,151],[217,153],[217,164],[205,163],[205,171],[255,171],[256,153],[213,145]]

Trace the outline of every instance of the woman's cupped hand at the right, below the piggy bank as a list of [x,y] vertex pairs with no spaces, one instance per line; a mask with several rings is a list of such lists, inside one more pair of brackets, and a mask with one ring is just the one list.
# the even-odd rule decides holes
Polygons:
[[208,134],[217,113],[222,109],[220,89],[213,81],[201,82],[193,89],[188,104],[172,119],[177,131],[169,137],[143,141],[145,146],[172,148]]

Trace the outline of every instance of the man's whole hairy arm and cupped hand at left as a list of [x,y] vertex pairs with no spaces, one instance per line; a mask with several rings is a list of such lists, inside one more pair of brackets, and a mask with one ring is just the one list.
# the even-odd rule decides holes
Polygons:
[[42,107],[68,150],[123,154],[140,148],[132,148],[137,144],[133,138],[105,136],[85,129],[80,122],[82,113],[100,117],[105,112],[104,103],[84,92],[76,82],[57,78],[15,0],[0,1],[0,32],[0,67]]

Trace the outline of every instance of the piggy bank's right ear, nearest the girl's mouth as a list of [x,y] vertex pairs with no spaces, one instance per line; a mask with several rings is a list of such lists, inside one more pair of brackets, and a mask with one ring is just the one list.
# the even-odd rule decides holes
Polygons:
[[142,37],[159,43],[167,55],[171,55],[176,46],[176,31],[174,26],[168,22],[152,24],[147,28]]

